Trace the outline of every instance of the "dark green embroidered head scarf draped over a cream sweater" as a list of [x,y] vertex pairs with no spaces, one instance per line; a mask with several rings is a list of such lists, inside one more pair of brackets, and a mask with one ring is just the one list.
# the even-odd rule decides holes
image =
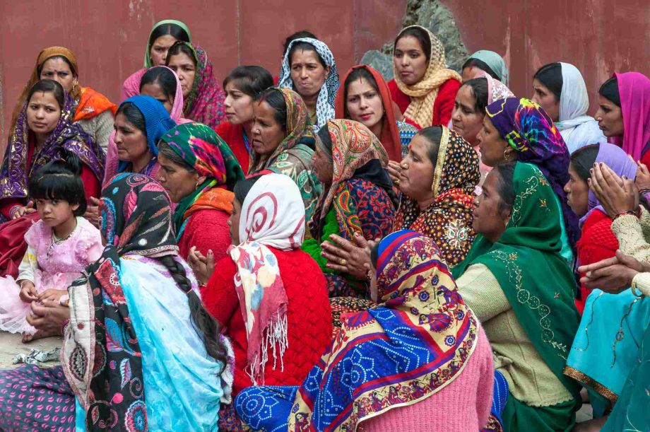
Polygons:
[[454,278],[472,264],[485,264],[536,351],[578,402],[579,386],[562,373],[580,317],[573,272],[560,256],[560,209],[535,165],[517,162],[513,187],[512,215],[501,238],[491,243],[477,235]]

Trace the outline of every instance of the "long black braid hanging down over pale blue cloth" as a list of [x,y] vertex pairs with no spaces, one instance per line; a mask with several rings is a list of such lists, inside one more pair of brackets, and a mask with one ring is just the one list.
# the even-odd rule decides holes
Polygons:
[[222,363],[223,367],[219,373],[221,375],[228,365],[228,350],[220,339],[221,328],[219,322],[208,313],[196,291],[191,288],[191,282],[187,278],[187,272],[185,272],[182,264],[175,260],[172,255],[158,257],[158,261],[167,267],[172,279],[187,294],[192,326],[203,339],[203,345],[206,346],[208,356]]

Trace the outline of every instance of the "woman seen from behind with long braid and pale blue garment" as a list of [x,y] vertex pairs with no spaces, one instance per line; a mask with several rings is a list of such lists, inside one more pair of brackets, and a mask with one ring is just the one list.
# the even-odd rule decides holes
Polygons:
[[1,387],[20,390],[0,392],[0,427],[213,430],[230,397],[228,342],[177,257],[167,194],[149,177],[122,174],[101,209],[108,245],[70,286],[57,307],[64,313],[49,317],[64,326],[62,366],[1,373]]

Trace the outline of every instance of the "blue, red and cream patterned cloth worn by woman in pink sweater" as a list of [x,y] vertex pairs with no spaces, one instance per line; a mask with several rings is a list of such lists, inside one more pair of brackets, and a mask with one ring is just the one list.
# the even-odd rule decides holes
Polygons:
[[432,240],[407,230],[384,238],[377,288],[382,304],[343,318],[301,387],[249,387],[235,399],[240,418],[254,430],[284,423],[291,431],[354,431],[458,377],[476,346],[478,323]]

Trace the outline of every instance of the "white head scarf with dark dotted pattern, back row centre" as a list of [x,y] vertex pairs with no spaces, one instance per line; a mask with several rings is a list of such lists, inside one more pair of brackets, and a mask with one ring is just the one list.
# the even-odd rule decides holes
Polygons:
[[282,70],[280,70],[280,78],[278,80],[279,87],[295,90],[293,79],[291,78],[291,59],[289,58],[289,53],[291,52],[291,47],[300,42],[307,42],[309,45],[313,45],[321,59],[323,59],[325,64],[329,66],[329,74],[325,78],[325,83],[318,93],[318,99],[316,102],[317,124],[314,124],[314,129],[318,131],[327,120],[334,118],[334,98],[336,98],[336,92],[338,91],[339,86],[336,62],[334,62],[334,56],[324,42],[312,39],[311,37],[295,39],[290,42],[282,60]]

